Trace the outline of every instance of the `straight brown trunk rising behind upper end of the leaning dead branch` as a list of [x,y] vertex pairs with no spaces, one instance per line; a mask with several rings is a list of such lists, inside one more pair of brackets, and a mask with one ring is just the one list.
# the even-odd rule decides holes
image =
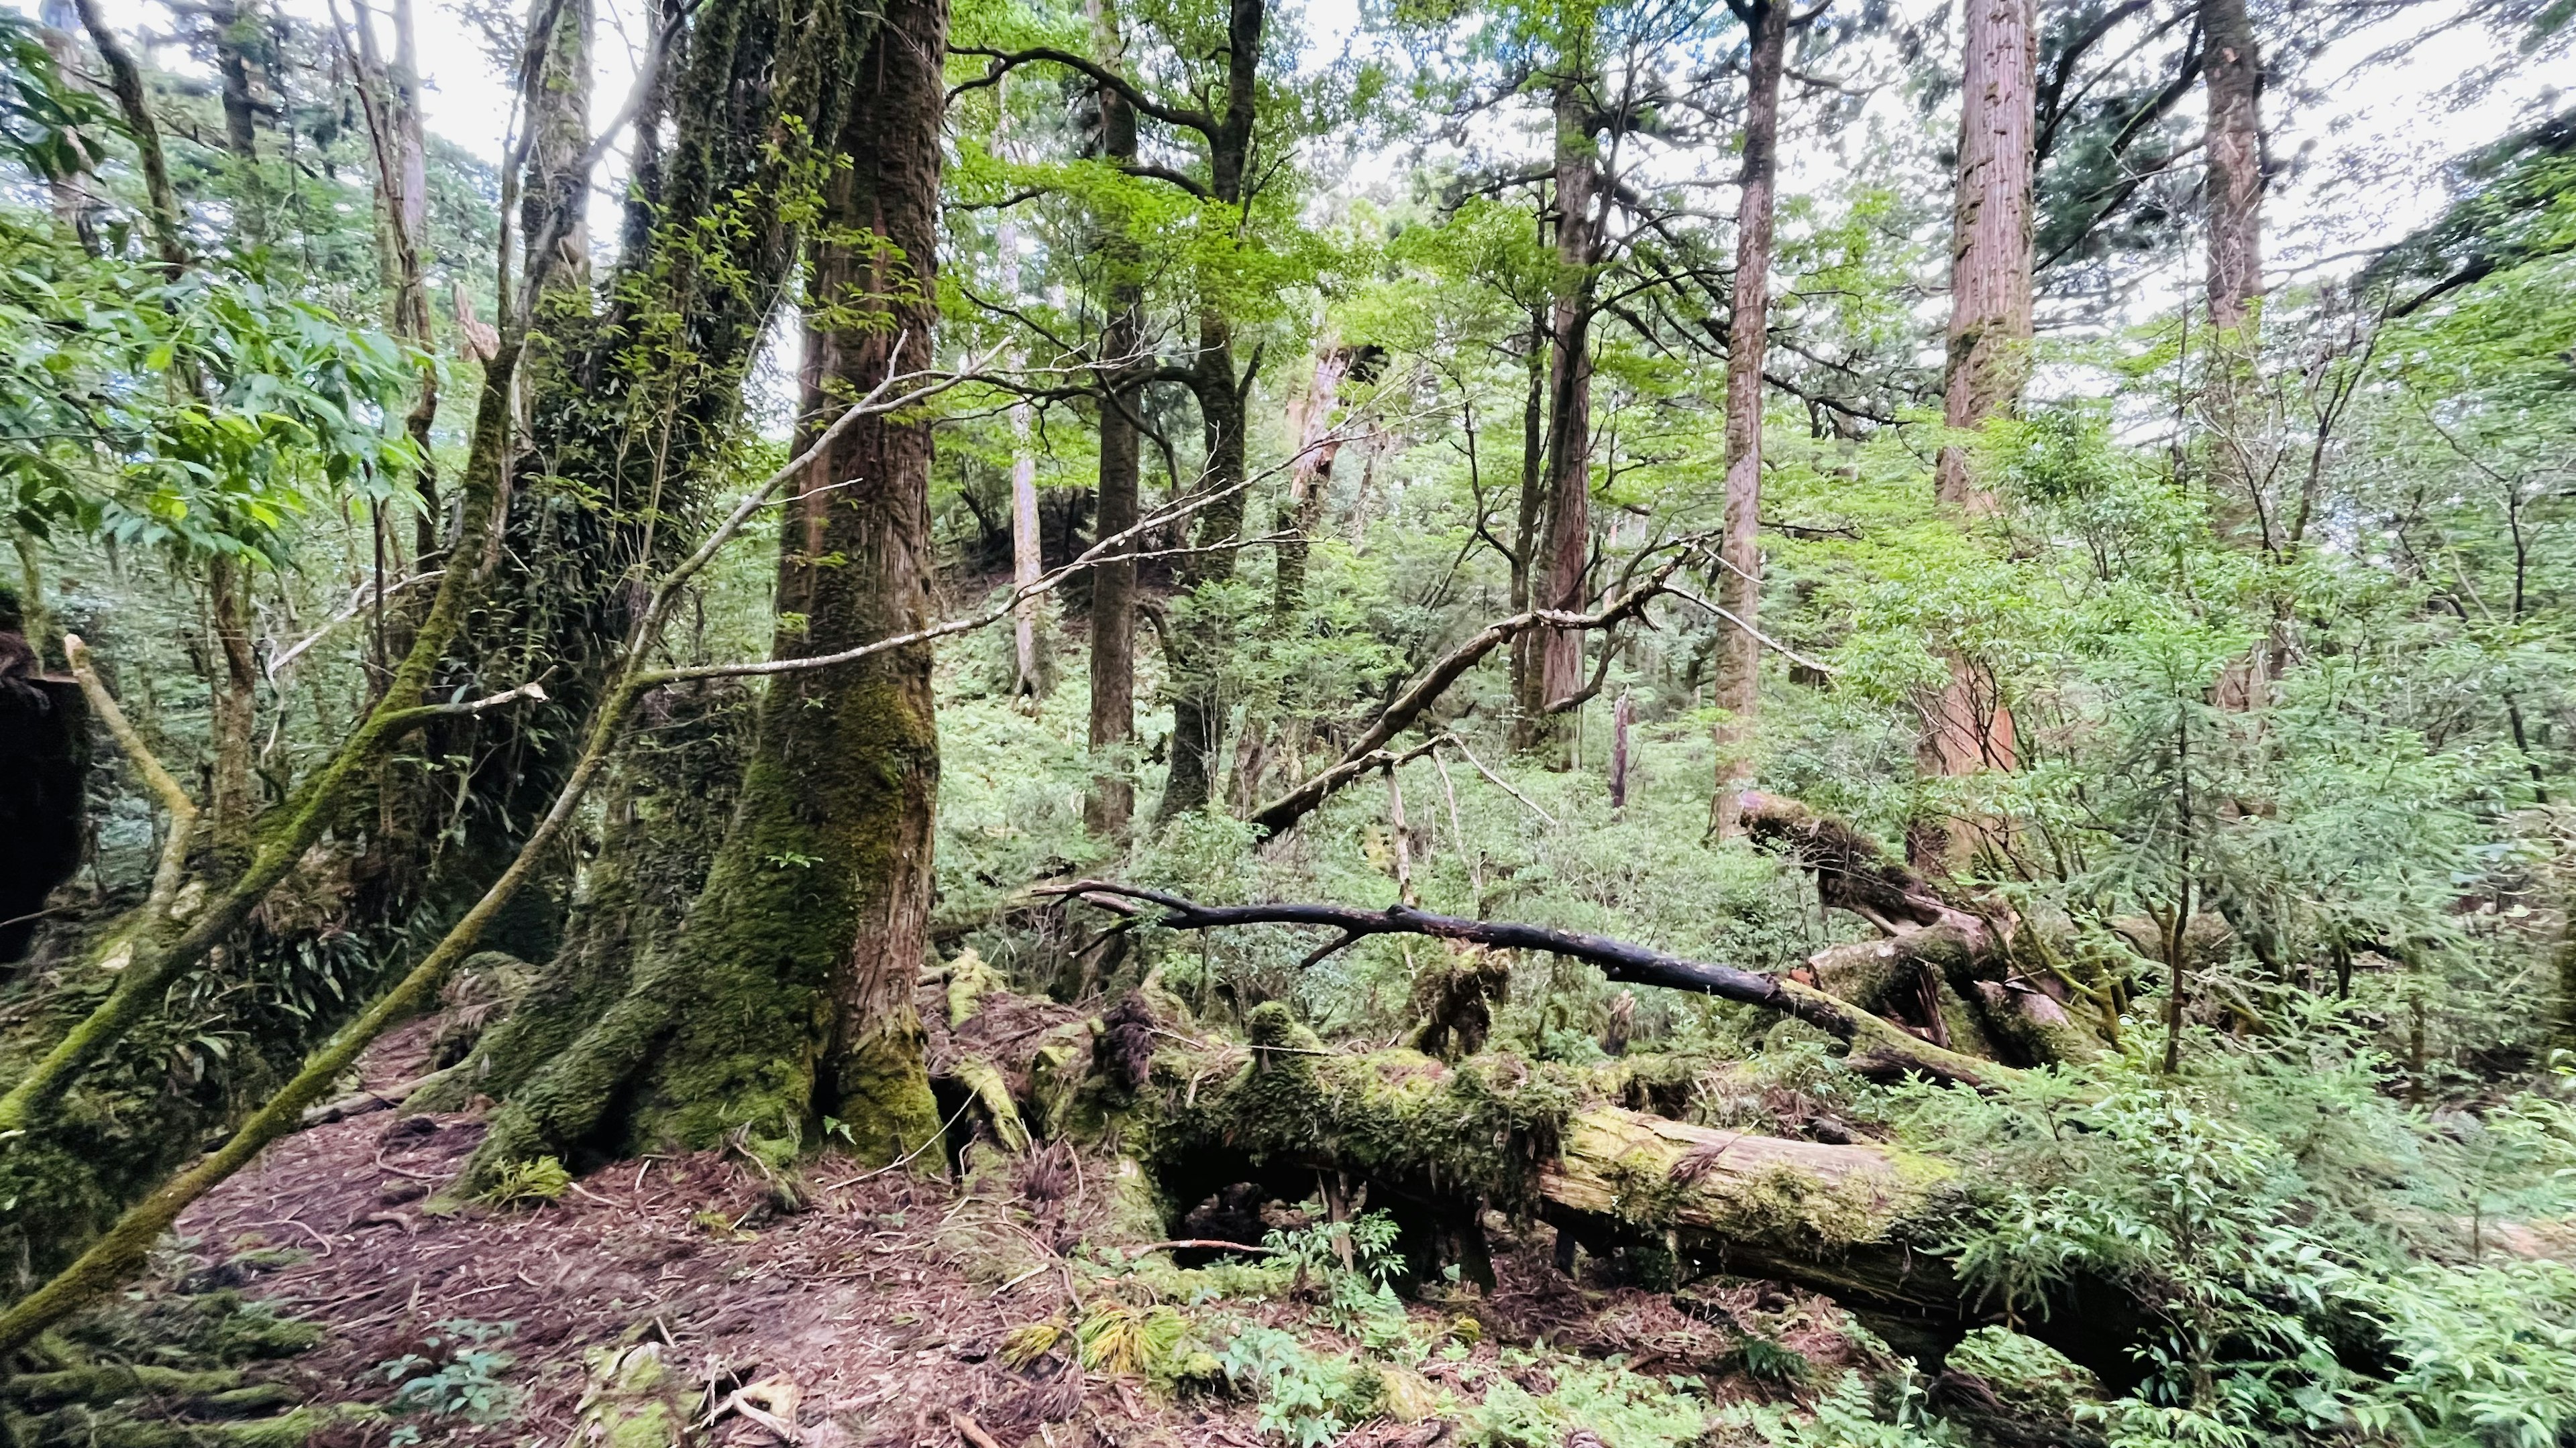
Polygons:
[[[1595,214],[1600,157],[1584,85],[1556,85],[1556,268],[1548,384],[1548,531],[1540,546],[1538,600],[1564,613],[1584,611],[1592,564],[1592,265],[1600,260]],[[1584,639],[1548,631],[1540,644],[1540,698],[1556,703],[1584,688]],[[1551,729],[1538,724],[1538,739]]]

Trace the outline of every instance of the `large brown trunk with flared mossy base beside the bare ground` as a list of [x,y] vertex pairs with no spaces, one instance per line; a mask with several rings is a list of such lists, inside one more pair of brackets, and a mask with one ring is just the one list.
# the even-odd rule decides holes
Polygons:
[[[824,183],[806,438],[930,361],[943,0],[886,8]],[[793,484],[778,660],[927,624],[930,428],[868,417]],[[889,1159],[938,1131],[912,984],[927,951],[938,734],[930,647],[781,672],[724,848],[680,938],[495,1118],[469,1183],[533,1154],[708,1147],[783,1157],[837,1121]]]

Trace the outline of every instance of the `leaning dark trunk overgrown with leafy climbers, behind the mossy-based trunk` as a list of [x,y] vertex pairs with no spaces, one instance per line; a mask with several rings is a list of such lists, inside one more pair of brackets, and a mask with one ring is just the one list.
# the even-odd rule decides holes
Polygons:
[[[598,314],[582,291],[554,291],[554,345],[531,356],[528,456],[471,670],[510,683],[544,672],[551,703],[435,739],[440,752],[474,760],[474,806],[510,822],[440,855],[428,894],[446,907],[479,897],[510,843],[554,801],[644,580],[685,544],[672,520],[690,518],[708,482],[729,477],[742,379],[796,273],[799,216],[824,173],[817,152],[840,134],[850,67],[873,28],[850,0],[703,0],[659,15],[662,26],[683,21],[662,64],[639,77],[636,201],[618,273],[598,291]],[[556,49],[572,39],[559,31]],[[559,144],[587,108],[569,85],[587,75],[559,54],[541,75],[559,88],[541,106],[559,111]],[[554,265],[551,276],[562,283],[569,273]],[[567,858],[518,891],[489,943],[546,958],[569,886]]]

